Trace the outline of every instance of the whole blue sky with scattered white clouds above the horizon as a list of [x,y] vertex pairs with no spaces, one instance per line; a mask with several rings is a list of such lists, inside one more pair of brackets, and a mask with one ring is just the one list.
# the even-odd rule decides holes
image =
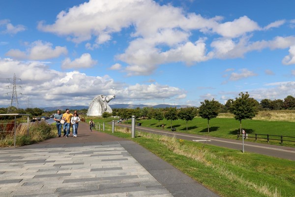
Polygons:
[[[1,0],[0,106],[295,96],[293,0]],[[10,78],[10,80],[7,80]],[[11,86],[10,86],[11,87]],[[8,94],[6,94],[8,93]]]

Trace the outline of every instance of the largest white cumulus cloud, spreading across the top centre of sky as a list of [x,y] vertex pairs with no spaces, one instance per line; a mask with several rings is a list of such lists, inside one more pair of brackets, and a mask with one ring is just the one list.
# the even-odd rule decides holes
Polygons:
[[[224,23],[222,20],[220,16],[205,18],[185,13],[181,8],[160,5],[153,0],[89,0],[68,11],[61,11],[52,25],[39,22],[38,29],[67,36],[76,43],[94,37],[94,43],[85,45],[93,50],[113,39],[112,34],[123,28],[134,28],[129,46],[117,56],[118,60],[128,64],[125,71],[132,76],[151,74],[159,64],[184,62],[191,65],[214,58],[214,55],[226,58],[239,46],[232,38],[261,29],[247,16]],[[215,53],[207,52],[206,38],[189,40],[192,31],[196,30],[200,34],[217,34],[226,38],[211,45],[216,49]],[[231,57],[241,57],[243,51],[240,51]]]

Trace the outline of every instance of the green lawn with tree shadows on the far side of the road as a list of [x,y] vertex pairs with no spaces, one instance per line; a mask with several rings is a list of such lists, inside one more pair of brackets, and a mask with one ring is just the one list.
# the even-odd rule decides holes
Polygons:
[[[171,121],[161,120],[138,120],[142,123],[143,127],[149,128],[159,128],[164,125],[165,131],[171,131]],[[127,123],[131,123],[128,121]],[[255,136],[253,133],[257,134],[269,134],[269,135],[283,135],[295,137],[295,123],[289,121],[265,121],[265,120],[242,120],[242,129],[248,133],[249,136]],[[210,132],[207,132],[207,119],[200,117],[194,118],[192,121],[188,121],[186,130],[186,121],[175,120],[172,121],[172,128],[176,128],[177,132],[208,135],[214,137],[230,138],[236,139],[237,133],[239,132],[239,121],[233,118],[214,118],[209,121]],[[260,136],[266,138],[266,136]],[[277,137],[270,137],[274,139],[280,139]],[[241,138],[239,138],[241,139]],[[295,138],[283,138],[287,140],[295,141]],[[249,141],[254,141],[254,138],[248,138]],[[266,139],[259,139],[260,143],[267,143]],[[270,144],[280,145],[279,140],[270,140]],[[295,147],[295,142],[284,141],[283,145]]]

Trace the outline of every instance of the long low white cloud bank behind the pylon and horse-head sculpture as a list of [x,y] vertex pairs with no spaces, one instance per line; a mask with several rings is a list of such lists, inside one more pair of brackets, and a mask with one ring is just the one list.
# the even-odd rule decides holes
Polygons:
[[[158,83],[128,85],[116,82],[108,75],[87,76],[79,71],[60,72],[49,69],[40,62],[21,62],[9,58],[0,59],[1,78],[11,78],[13,73],[22,80],[22,94],[30,98],[33,107],[59,105],[86,105],[97,95],[118,95],[113,103],[126,103],[132,100],[177,98],[184,90]],[[40,74],[42,73],[42,74]],[[87,82],[87,83],[86,83]],[[0,92],[5,85],[0,87]],[[95,91],[93,91],[95,90]],[[10,97],[5,98],[8,105]],[[4,102],[1,99],[1,103]],[[26,106],[25,106],[26,107]]]

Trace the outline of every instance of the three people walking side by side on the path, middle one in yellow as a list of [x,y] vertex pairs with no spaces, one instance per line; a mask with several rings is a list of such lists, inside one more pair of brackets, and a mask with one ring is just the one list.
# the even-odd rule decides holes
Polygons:
[[64,114],[61,114],[61,111],[58,110],[57,113],[54,115],[54,120],[57,123],[58,135],[61,136],[61,128],[63,124],[63,137],[69,137],[70,134],[70,127],[73,127],[73,136],[77,137],[78,134],[78,126],[79,122],[81,121],[79,115],[75,111],[74,114],[70,113],[69,109],[65,110]]

